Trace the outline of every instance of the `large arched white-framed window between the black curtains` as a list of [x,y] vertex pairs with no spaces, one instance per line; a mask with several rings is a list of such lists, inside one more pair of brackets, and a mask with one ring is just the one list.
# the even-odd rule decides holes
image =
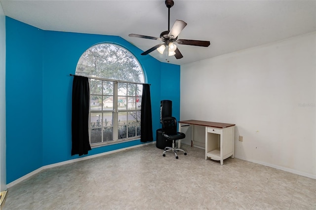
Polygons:
[[91,146],[139,138],[144,73],[136,58],[118,45],[96,44],[81,55],[76,74],[89,77]]

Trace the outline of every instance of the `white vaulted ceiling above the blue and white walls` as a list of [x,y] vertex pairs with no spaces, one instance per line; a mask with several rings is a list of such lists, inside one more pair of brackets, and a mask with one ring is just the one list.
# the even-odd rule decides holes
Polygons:
[[[159,37],[168,29],[164,0],[0,0],[4,14],[42,30],[117,35],[143,51],[162,43],[129,37]],[[172,64],[198,60],[316,31],[316,0],[174,0],[174,21],[188,25],[179,39],[207,40],[209,47],[178,45],[184,56]],[[150,53],[161,62],[166,56]],[[146,55],[148,56],[148,55]]]

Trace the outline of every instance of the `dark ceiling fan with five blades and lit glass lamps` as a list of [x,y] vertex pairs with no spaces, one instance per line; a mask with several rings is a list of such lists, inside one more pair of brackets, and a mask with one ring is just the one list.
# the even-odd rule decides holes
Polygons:
[[168,55],[172,56],[174,55],[176,59],[183,58],[183,55],[177,48],[177,45],[174,44],[174,42],[178,44],[185,44],[185,45],[193,45],[193,46],[201,46],[201,47],[208,47],[210,45],[209,41],[201,41],[201,40],[191,40],[191,39],[178,39],[178,35],[181,33],[181,31],[186,27],[187,23],[182,20],[176,20],[173,24],[171,30],[170,30],[170,8],[173,6],[174,2],[173,0],[165,0],[165,4],[168,8],[168,31],[164,31],[160,34],[160,37],[154,37],[154,36],[147,36],[147,35],[137,35],[137,34],[130,34],[128,36],[131,37],[138,37],[138,38],[148,38],[148,39],[155,39],[163,41],[162,44],[157,44],[156,46],[150,48],[149,50],[143,52],[141,55],[147,55],[154,50],[158,50],[159,53],[163,54],[163,51],[165,48],[168,48]]

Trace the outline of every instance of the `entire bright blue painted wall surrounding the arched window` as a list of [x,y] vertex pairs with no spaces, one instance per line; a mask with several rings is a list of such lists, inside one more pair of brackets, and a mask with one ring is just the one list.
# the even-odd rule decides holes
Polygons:
[[[171,100],[179,118],[180,66],[141,56],[142,50],[119,36],[43,31],[6,17],[7,183],[42,166],[79,158],[71,156],[69,74],[75,74],[86,49],[102,42],[124,47],[142,66],[151,84],[154,140],[161,128],[161,100]],[[140,140],[93,148],[88,155],[138,144]]]

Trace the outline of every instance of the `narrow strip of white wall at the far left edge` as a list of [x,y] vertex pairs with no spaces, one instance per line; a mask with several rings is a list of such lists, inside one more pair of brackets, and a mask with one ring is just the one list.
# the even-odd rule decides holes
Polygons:
[[6,190],[5,171],[5,16],[0,3],[0,188]]

